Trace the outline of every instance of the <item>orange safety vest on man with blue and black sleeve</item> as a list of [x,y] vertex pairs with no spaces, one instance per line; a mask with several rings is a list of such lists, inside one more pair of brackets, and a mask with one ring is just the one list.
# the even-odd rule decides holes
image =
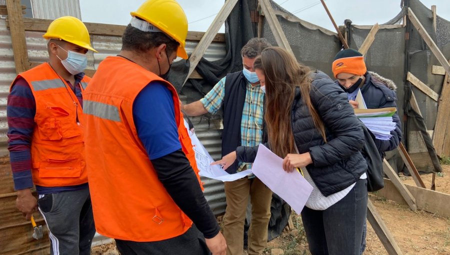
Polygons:
[[175,88],[134,62],[106,57],[83,102],[92,210],[96,230],[105,236],[158,241],[178,236],[192,225],[159,181],[134,125],[133,101],[154,80],[172,93],[178,138],[200,181]]

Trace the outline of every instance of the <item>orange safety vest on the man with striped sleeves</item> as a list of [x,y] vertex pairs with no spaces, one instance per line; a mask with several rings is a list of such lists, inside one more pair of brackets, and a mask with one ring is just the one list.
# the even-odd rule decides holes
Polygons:
[[[83,112],[75,93],[48,63],[18,74],[10,89],[18,77],[26,80],[36,101],[31,139],[34,184],[60,187],[86,183]],[[89,80],[84,75],[82,92]]]

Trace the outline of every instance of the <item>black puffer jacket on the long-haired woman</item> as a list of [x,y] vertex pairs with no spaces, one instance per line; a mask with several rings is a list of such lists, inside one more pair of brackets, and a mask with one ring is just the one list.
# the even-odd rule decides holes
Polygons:
[[[367,164],[360,153],[364,134],[348,103],[346,93],[323,72],[316,71],[311,82],[311,101],[326,127],[325,143],[314,127],[300,91],[292,104],[292,132],[299,153],[309,152],[312,164],[308,173],[323,195],[328,196],[356,182]],[[237,160],[252,162],[257,147],[239,146]]]

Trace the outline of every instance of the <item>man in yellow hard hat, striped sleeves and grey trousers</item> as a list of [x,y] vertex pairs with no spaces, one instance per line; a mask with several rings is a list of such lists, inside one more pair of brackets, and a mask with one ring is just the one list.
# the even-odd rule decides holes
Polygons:
[[[95,227],[84,152],[83,95],[89,33],[79,19],[53,20],[43,35],[49,61],[17,75],[7,102],[8,149],[16,206],[37,209],[51,254],[90,254]],[[38,199],[31,193],[35,185]]]

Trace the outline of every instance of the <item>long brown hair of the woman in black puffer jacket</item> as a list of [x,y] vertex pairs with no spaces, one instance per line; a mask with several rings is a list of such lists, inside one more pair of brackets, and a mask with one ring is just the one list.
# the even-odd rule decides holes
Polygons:
[[326,142],[325,126],[309,97],[310,69],[298,63],[294,56],[280,47],[262,50],[261,55],[254,60],[253,68],[262,70],[264,74],[267,105],[264,119],[270,149],[280,157],[296,153],[290,119],[296,87],[300,89],[301,98],[308,107],[314,126]]

